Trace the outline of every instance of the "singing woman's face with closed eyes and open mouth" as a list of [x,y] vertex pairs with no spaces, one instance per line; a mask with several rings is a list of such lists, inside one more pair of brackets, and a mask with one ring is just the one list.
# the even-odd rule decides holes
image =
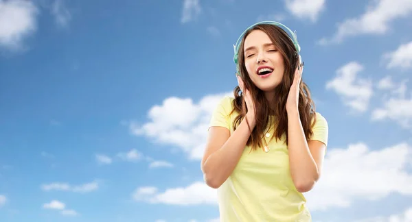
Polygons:
[[263,31],[253,30],[244,40],[244,64],[260,90],[273,91],[282,82],[284,59]]

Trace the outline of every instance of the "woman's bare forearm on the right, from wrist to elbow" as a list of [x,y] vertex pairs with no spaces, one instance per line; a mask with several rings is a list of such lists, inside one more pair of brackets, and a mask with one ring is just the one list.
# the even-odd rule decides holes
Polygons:
[[288,149],[290,173],[298,189],[312,188],[319,178],[319,171],[306,140],[299,112],[288,112]]

